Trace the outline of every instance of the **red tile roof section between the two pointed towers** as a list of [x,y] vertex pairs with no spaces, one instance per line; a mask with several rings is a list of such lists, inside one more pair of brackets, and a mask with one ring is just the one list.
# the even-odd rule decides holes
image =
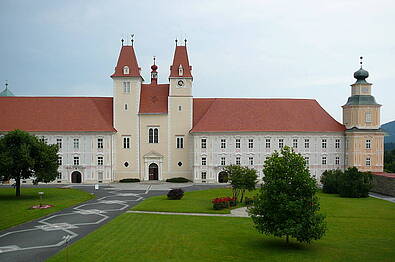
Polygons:
[[169,84],[142,84],[140,114],[166,114]]

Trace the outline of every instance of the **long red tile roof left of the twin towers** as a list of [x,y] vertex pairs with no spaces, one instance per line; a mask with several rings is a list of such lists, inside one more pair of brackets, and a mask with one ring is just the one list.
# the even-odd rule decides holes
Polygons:
[[112,97],[0,97],[0,131],[115,132]]

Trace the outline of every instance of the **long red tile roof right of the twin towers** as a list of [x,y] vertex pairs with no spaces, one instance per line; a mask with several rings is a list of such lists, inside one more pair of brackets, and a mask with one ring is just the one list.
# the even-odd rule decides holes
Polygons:
[[343,132],[312,99],[193,99],[190,132]]

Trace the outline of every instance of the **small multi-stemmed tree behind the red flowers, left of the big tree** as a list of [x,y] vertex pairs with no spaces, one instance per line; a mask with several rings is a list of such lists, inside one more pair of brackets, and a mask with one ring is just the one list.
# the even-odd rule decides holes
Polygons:
[[246,190],[252,191],[255,189],[257,174],[253,168],[242,167],[239,165],[229,165],[224,168],[228,174],[228,179],[232,185],[233,197],[240,202],[243,202]]

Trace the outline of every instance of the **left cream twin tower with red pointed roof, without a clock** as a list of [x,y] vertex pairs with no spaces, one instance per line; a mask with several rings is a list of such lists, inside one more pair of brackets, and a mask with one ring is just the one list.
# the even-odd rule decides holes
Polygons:
[[139,178],[139,104],[143,78],[132,45],[123,45],[113,79],[113,180]]

